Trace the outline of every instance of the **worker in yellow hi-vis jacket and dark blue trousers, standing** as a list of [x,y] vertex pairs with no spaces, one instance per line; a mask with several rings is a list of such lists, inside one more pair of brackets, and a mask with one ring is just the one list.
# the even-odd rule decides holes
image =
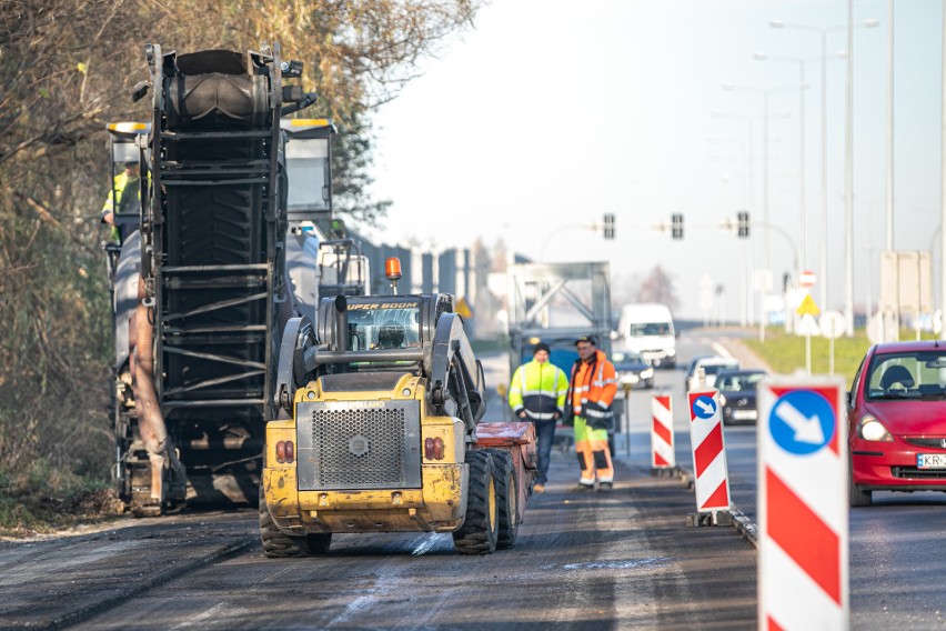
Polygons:
[[555,440],[555,423],[565,411],[565,393],[568,390],[568,378],[561,368],[549,362],[550,354],[547,344],[535,344],[532,361],[515,369],[510,382],[510,407],[513,413],[535,425],[539,478],[532,490],[536,493],[544,492],[549,482],[549,459]]

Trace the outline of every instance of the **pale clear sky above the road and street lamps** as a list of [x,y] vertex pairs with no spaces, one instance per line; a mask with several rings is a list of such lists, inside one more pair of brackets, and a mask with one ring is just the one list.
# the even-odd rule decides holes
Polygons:
[[[926,250],[940,217],[942,3],[895,4],[894,247]],[[703,316],[708,278],[737,320],[745,240],[717,226],[743,208],[763,219],[763,98],[722,84],[786,88],[769,97],[768,218],[792,241],[769,231],[781,284],[802,248],[798,66],[753,53],[818,58],[818,34],[769,20],[842,27],[846,14],[844,0],[494,0],[373,117],[374,192],[394,201],[374,237],[502,239],[535,260],[606,260],[615,286],[660,263],[675,279],[678,316]],[[855,21],[866,19],[879,26],[856,30],[854,43],[856,304],[885,242],[887,2],[856,0]],[[829,56],[846,43],[844,30],[831,33]],[[844,300],[845,68],[827,61],[828,309]],[[819,61],[806,64],[806,83],[804,267],[824,283]],[[748,123],[713,111],[756,117],[752,146]],[[616,216],[613,241],[582,227],[605,212]],[[651,228],[672,213],[685,217],[683,240]],[[758,267],[765,238],[755,232]],[[821,286],[812,293],[819,299]]]

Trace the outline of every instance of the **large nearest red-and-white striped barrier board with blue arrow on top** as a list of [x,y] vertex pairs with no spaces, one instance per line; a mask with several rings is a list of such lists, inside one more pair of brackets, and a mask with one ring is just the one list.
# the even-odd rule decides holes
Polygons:
[[759,385],[758,628],[847,629],[844,381]]

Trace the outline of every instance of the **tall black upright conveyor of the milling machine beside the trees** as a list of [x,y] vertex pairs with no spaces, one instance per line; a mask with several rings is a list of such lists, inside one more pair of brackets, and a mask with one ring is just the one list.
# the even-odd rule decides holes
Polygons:
[[[119,492],[139,515],[255,504],[280,334],[305,312],[286,267],[280,117],[315,94],[283,84],[302,67],[278,46],[145,52],[140,227],[110,252]],[[113,142],[135,140],[119,131]]]

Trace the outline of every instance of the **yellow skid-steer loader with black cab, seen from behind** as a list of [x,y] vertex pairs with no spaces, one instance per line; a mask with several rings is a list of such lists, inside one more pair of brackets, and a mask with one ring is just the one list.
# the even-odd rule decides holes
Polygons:
[[283,334],[260,488],[266,555],[323,553],[349,532],[452,532],[466,554],[514,545],[534,430],[480,422],[483,369],[453,298],[325,298],[318,321]]

